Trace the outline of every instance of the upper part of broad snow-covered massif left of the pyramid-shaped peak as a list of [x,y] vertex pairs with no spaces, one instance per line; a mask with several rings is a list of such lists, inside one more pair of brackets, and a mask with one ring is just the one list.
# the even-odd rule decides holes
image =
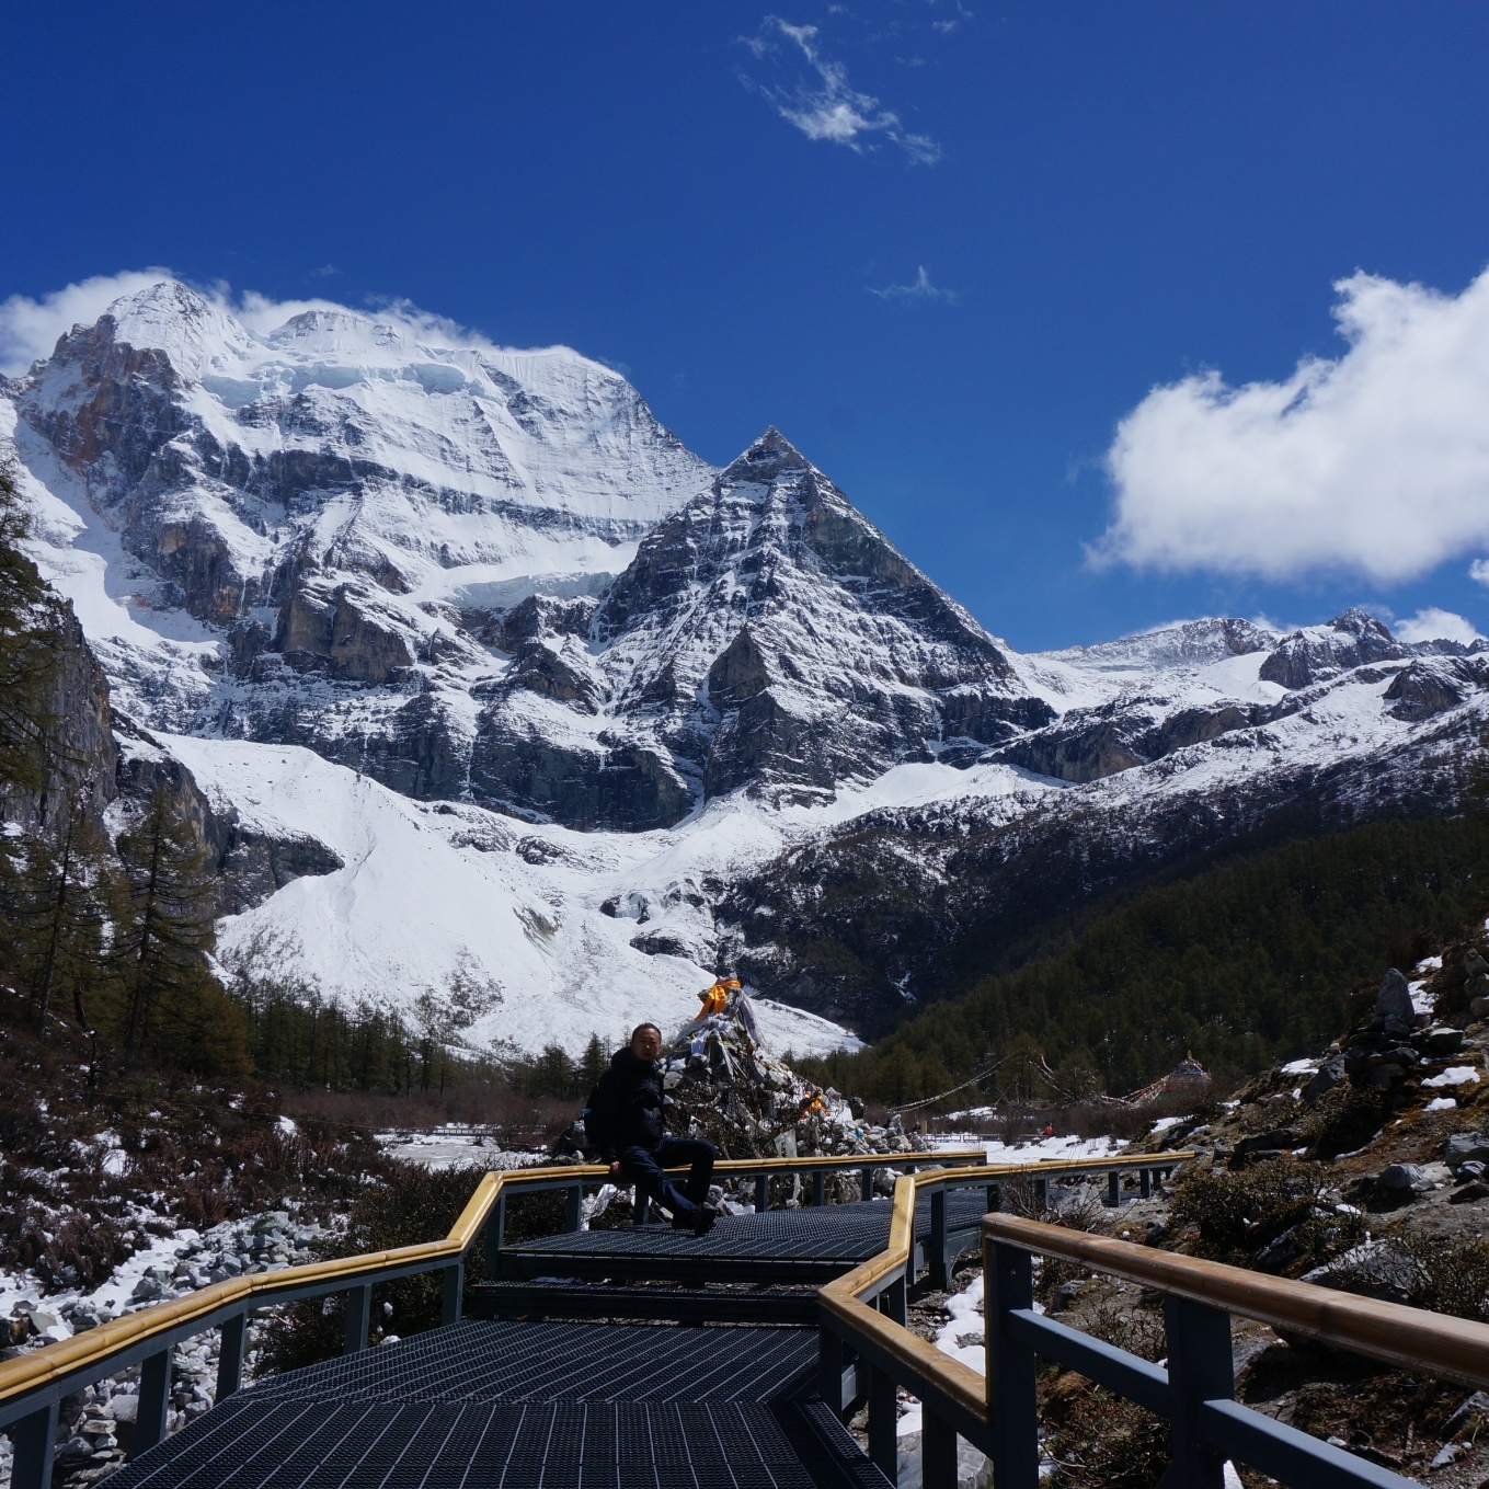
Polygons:
[[[360,683],[479,660],[463,612],[597,591],[713,474],[566,347],[331,310],[256,334],[171,281],[4,392],[54,532],[109,563],[131,706],[177,722],[259,654]],[[210,642],[208,677],[161,639]]]

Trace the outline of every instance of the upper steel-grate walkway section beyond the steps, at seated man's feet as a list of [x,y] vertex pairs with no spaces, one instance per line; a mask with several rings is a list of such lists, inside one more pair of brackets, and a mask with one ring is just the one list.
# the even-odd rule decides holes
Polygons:
[[[983,1191],[950,1191],[946,1211],[953,1242],[975,1245],[987,1211]],[[884,1249],[889,1214],[887,1200],[868,1200],[727,1215],[706,1236],[670,1225],[575,1230],[503,1245],[496,1275],[502,1281],[831,1282]],[[929,1234],[931,1202],[922,1200],[917,1242]]]

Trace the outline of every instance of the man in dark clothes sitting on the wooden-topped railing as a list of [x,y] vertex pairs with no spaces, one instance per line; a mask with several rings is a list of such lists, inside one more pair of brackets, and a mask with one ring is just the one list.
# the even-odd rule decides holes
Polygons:
[[[654,1205],[672,1211],[673,1230],[701,1236],[713,1224],[704,1205],[713,1176],[712,1142],[669,1138],[663,1106],[661,1030],[637,1024],[631,1042],[616,1050],[590,1102],[587,1129],[610,1173],[624,1175]],[[679,1191],[663,1169],[691,1164],[688,1185]]]

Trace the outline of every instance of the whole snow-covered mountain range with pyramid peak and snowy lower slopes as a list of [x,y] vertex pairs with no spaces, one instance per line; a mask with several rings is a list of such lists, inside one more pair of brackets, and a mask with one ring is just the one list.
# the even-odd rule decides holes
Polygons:
[[853,1044],[1141,881],[1456,810],[1489,703],[1489,642],[1358,609],[1020,655],[774,429],[715,469],[606,366],[401,311],[162,280],[0,380],[0,454],[100,800],[192,800],[219,954],[506,1048],[725,968]]

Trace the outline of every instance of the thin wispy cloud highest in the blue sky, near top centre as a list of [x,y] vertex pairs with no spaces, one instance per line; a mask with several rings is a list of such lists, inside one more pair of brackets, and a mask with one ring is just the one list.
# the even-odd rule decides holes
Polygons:
[[785,52],[783,66],[795,64],[801,70],[791,83],[761,83],[740,76],[809,140],[828,140],[864,152],[884,138],[899,146],[913,165],[934,165],[941,158],[941,146],[931,135],[911,134],[898,113],[880,109],[877,98],[849,83],[847,68],[822,54],[814,25],[792,25],[779,15],[768,15],[755,36],[742,36],[740,42],[759,61],[780,63]]

